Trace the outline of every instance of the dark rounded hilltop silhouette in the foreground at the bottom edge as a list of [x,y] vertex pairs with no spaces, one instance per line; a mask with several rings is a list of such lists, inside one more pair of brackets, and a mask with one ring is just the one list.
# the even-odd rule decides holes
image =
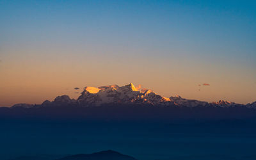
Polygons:
[[113,150],[97,152],[93,154],[76,154],[56,160],[136,160],[134,157],[120,154]]

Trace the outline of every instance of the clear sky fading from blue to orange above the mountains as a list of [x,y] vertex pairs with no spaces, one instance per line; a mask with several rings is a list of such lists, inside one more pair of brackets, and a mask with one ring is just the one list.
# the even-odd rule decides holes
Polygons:
[[255,8],[236,0],[0,0],[0,106],[129,83],[164,97],[254,102]]

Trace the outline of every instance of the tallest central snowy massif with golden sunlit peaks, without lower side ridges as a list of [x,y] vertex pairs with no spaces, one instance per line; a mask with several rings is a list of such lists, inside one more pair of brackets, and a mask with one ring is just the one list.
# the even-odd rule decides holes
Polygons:
[[141,104],[166,104],[170,99],[161,97],[152,90],[138,90],[132,83],[125,86],[101,86],[99,88],[86,87],[77,99],[79,104],[85,106],[100,106],[113,103],[141,103]]

